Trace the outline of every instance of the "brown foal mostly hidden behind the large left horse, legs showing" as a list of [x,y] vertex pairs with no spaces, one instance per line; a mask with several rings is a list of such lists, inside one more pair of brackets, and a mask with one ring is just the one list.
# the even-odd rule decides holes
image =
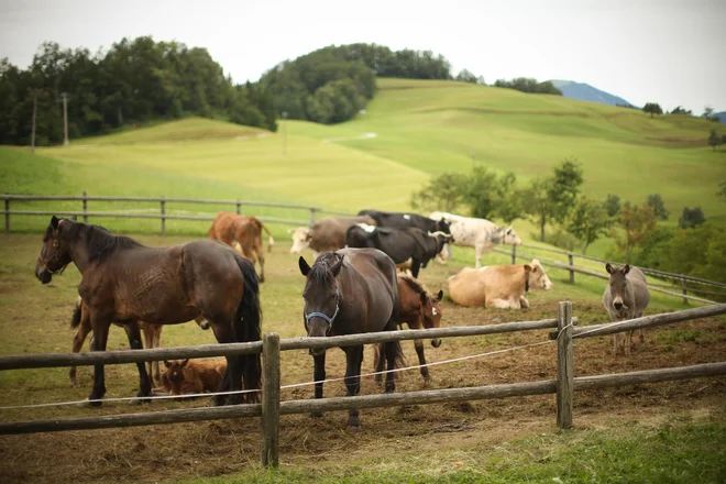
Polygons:
[[[201,329],[209,329],[209,322],[202,318],[198,317],[195,319],[195,322],[199,324]],[[120,322],[114,322],[116,326],[122,327],[127,330],[128,324]],[[161,324],[150,324],[144,321],[139,321],[139,327],[141,332],[144,334],[144,348],[162,348],[162,329],[164,328]],[[80,349],[84,348],[84,342],[86,337],[91,332],[90,316],[88,308],[84,309],[84,300],[78,297],[76,299],[76,305],[74,306],[73,317],[70,319],[70,328],[78,328],[76,336],[73,338],[73,352],[79,353]],[[128,336],[128,334],[127,334]],[[146,372],[152,377],[152,383],[162,386],[162,372],[160,371],[158,362],[152,361],[147,362]],[[70,384],[76,387],[78,386],[78,380],[76,378],[76,366],[70,366],[68,371],[68,377],[70,378]]]

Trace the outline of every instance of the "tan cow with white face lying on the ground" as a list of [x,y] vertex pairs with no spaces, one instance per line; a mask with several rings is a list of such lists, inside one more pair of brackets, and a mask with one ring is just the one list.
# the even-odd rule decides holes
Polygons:
[[449,277],[449,295],[461,306],[528,308],[525,294],[529,289],[551,288],[552,282],[537,258],[532,258],[530,264],[464,267]]

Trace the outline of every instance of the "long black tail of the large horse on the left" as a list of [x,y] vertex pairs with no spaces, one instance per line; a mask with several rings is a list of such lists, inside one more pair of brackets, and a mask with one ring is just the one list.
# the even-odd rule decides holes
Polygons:
[[[242,256],[234,257],[244,276],[242,301],[234,316],[234,332],[240,342],[260,341],[262,339],[262,308],[260,307],[260,283],[257,273],[250,261]],[[260,353],[241,356],[245,389],[260,388],[262,375],[262,358]]]

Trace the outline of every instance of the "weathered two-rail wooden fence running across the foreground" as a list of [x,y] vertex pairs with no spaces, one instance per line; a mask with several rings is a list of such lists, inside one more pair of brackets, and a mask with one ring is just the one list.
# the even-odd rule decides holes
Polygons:
[[[686,321],[726,314],[726,305],[715,305],[683,311],[648,316],[625,323],[597,324],[574,328],[570,302],[560,302],[558,319],[508,322],[481,327],[453,327],[429,330],[387,331],[330,338],[295,338],[280,340],[267,333],[263,341],[252,343],[210,344],[201,346],[166,348],[157,350],[112,351],[80,354],[35,354],[0,358],[0,370],[20,370],[69,365],[94,365],[109,363],[135,363],[164,359],[200,356],[228,356],[241,354],[263,355],[262,403],[230,407],[193,408],[154,413],[111,415],[73,419],[53,419],[21,422],[0,422],[0,435],[51,432],[64,430],[102,429],[111,427],[135,427],[186,421],[217,420],[241,417],[262,417],[261,461],[264,466],[277,466],[280,415],[308,414],[315,411],[344,410],[351,408],[389,407],[396,405],[422,405],[444,402],[505,398],[513,396],[557,394],[557,424],[560,428],[572,427],[574,391],[605,388],[639,383],[656,383],[675,380],[726,375],[726,362],[648,370],[615,375],[574,377],[572,341],[637,328]],[[557,340],[557,380],[528,383],[485,385],[469,388],[431,389],[387,395],[333,397],[314,400],[280,402],[279,353],[287,350],[328,349],[336,346],[381,343],[430,338],[453,338],[495,334],[514,331],[554,329],[551,339]]]

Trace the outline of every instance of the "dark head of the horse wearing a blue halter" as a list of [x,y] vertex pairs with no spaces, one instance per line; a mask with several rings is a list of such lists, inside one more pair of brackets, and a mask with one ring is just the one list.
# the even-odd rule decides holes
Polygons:
[[[321,254],[312,267],[300,256],[298,264],[300,273],[307,277],[302,298],[305,309],[305,329],[308,337],[326,337],[333,327],[333,321],[340,311],[340,289],[336,277],[343,265],[343,256],[334,252]],[[310,350],[316,356],[324,353],[322,350]]]

